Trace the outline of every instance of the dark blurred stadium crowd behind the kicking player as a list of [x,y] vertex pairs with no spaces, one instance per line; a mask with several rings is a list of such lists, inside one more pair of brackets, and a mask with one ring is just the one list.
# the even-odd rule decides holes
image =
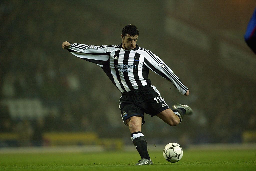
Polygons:
[[148,143],[245,142],[244,133],[256,131],[256,56],[243,39],[255,7],[254,0],[2,0],[0,147],[45,145],[49,132],[91,132],[131,144],[119,90],[99,66],[61,48],[63,41],[118,45],[127,24],[140,30],[137,44],[189,88],[188,97],[180,95],[151,72],[167,104],[194,110],[176,127],[145,114]]

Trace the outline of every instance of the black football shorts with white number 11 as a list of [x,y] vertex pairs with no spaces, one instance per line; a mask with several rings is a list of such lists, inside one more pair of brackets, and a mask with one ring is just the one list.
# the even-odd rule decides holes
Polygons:
[[119,109],[125,125],[125,120],[132,116],[142,117],[143,125],[145,123],[144,113],[153,117],[163,110],[169,109],[169,106],[155,86],[146,85],[134,91],[122,93]]

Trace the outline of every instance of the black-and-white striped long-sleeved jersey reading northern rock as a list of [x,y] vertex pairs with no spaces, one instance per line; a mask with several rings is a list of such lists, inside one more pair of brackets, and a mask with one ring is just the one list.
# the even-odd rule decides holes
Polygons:
[[139,47],[124,50],[121,45],[86,45],[73,43],[68,49],[73,55],[99,65],[121,92],[130,92],[151,85],[149,70],[172,82],[181,94],[188,88],[173,71],[151,51]]

